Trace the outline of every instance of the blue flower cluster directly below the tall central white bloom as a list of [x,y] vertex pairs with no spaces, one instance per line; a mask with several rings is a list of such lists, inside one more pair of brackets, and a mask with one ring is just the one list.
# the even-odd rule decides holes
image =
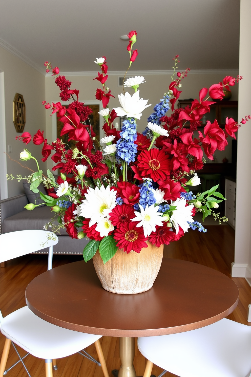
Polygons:
[[118,161],[126,161],[129,165],[129,162],[135,161],[137,153],[137,144],[134,144],[137,139],[137,124],[134,118],[128,118],[123,121],[120,136],[116,144],[116,158]]

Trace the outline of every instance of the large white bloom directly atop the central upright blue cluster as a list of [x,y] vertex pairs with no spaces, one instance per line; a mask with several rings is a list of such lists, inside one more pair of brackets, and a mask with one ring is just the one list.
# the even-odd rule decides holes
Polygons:
[[140,119],[142,111],[145,110],[146,107],[152,106],[146,105],[148,100],[143,100],[143,98],[140,98],[140,93],[138,90],[132,96],[126,92],[125,95],[121,93],[118,95],[118,97],[122,107],[116,107],[114,109],[117,116],[126,115],[127,118]]

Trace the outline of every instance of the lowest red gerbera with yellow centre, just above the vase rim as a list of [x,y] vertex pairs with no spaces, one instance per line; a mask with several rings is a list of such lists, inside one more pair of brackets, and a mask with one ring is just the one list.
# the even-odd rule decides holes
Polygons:
[[142,247],[148,247],[143,228],[136,227],[137,222],[129,222],[114,231],[113,238],[117,240],[117,247],[124,249],[127,254],[134,250],[139,253]]

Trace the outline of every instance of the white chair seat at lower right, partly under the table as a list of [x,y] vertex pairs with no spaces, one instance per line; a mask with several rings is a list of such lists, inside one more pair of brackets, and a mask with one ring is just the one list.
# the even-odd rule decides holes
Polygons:
[[138,349],[181,377],[248,377],[251,327],[228,319],[185,333],[138,338]]

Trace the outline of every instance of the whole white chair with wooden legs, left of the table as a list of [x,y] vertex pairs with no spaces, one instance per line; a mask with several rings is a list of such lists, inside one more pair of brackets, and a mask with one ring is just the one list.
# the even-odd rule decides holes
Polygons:
[[[54,236],[52,240],[47,241],[48,233],[53,234],[44,230],[23,230],[0,234],[0,262],[49,247],[48,270],[50,270],[52,268],[53,245],[58,243],[58,238]],[[37,317],[27,306],[4,318],[0,312],[0,330],[6,336],[0,363],[0,377],[3,377],[7,372],[5,366],[11,343],[16,352],[15,344],[28,352],[24,357],[30,353],[33,356],[45,359],[46,377],[52,377],[52,360],[53,365],[55,365],[56,359],[70,356],[76,352],[81,353],[81,350],[95,343],[103,374],[105,377],[109,377],[99,342],[101,336],[99,335],[79,333],[53,325]],[[23,362],[24,357],[21,358],[18,352],[17,354],[20,359],[18,362],[21,362],[26,369]],[[92,360],[98,363],[96,360]],[[30,376],[27,369],[26,372]]]

